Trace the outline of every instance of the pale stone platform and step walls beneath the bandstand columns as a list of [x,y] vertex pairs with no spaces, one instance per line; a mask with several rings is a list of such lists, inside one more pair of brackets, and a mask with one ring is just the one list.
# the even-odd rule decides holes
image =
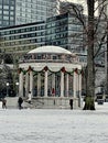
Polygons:
[[[8,108],[18,108],[19,97],[7,97]],[[69,100],[73,99],[73,109],[79,108],[79,100],[77,98],[60,98],[60,97],[34,97],[31,103],[26,99],[23,99],[23,108],[32,109],[71,109]]]

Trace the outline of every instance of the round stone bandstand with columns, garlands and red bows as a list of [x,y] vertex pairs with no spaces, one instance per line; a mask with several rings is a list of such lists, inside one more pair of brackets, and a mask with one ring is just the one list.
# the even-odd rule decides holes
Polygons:
[[58,46],[41,46],[19,62],[19,96],[31,91],[35,108],[80,107],[82,65],[75,54]]

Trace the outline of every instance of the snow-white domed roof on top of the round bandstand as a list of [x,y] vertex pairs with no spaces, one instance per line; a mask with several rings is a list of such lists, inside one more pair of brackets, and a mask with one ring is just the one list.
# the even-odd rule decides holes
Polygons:
[[60,47],[60,46],[41,46],[41,47],[36,47],[32,51],[30,51],[28,54],[31,53],[56,53],[56,54],[72,54],[69,51]]

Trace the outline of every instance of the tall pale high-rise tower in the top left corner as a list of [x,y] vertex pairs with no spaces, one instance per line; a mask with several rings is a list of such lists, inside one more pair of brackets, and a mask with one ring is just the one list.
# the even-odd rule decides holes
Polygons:
[[57,0],[0,0],[0,26],[46,20],[56,11]]

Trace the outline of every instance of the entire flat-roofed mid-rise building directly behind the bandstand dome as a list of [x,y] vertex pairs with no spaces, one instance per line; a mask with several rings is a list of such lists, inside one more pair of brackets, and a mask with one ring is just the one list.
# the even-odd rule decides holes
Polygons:
[[75,18],[64,13],[47,18],[46,21],[15,25],[0,29],[1,51],[6,53],[25,53],[43,45],[62,46],[71,52],[78,53],[82,62],[86,58],[83,46],[83,25]]

